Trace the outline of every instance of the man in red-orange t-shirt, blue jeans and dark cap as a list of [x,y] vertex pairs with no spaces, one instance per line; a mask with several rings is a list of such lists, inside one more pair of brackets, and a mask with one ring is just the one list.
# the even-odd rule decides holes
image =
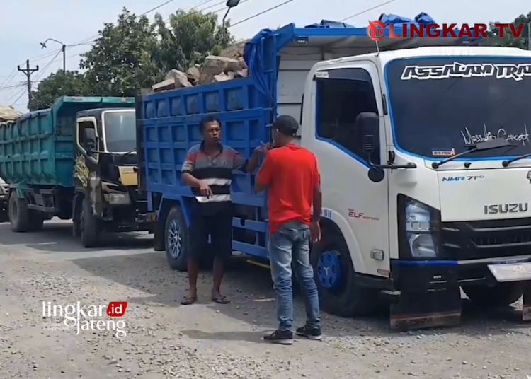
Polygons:
[[256,190],[268,189],[269,259],[279,322],[278,330],[264,339],[280,344],[293,343],[292,260],[307,313],[306,325],[295,333],[321,339],[319,296],[309,262],[310,238],[313,242],[321,238],[321,186],[316,157],[295,144],[298,128],[293,117],[275,120],[273,148],[256,177]]

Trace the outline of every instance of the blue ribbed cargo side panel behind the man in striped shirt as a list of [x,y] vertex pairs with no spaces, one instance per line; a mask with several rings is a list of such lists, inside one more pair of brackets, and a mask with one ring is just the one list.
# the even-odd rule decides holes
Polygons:
[[[222,124],[222,142],[249,158],[261,141],[269,141],[272,110],[264,103],[252,78],[144,96],[144,156],[148,192],[174,198],[191,196],[181,183],[181,167],[188,149],[200,144],[199,123],[212,115]],[[253,192],[251,175],[234,172],[236,204],[263,206]]]

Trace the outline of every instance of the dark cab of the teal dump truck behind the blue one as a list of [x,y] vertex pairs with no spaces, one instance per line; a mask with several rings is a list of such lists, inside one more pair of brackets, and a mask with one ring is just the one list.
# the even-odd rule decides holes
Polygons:
[[74,234],[93,245],[105,231],[150,230],[138,191],[134,108],[98,108],[76,115]]

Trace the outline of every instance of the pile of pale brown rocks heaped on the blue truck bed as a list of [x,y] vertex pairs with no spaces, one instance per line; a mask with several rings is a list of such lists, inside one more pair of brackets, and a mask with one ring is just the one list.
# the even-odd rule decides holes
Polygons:
[[246,42],[247,40],[243,40],[227,47],[219,56],[209,55],[204,64],[195,64],[186,72],[176,69],[169,71],[165,80],[152,86],[152,90],[168,91],[248,76],[249,71],[244,60]]

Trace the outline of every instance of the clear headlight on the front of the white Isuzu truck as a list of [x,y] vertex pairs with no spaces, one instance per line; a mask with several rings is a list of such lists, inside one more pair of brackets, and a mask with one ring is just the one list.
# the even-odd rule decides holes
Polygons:
[[438,211],[413,199],[401,202],[401,259],[429,259],[439,255]]

